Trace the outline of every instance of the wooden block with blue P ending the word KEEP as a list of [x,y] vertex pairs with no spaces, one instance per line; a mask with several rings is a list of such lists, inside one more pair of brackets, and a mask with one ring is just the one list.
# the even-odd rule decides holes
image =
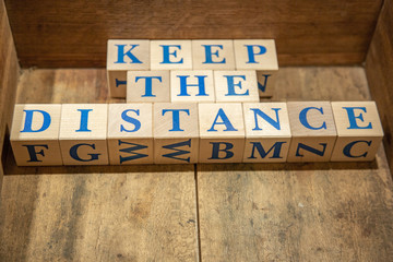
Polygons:
[[278,71],[275,43],[270,40],[234,40],[236,70],[257,70],[261,97],[271,97]]

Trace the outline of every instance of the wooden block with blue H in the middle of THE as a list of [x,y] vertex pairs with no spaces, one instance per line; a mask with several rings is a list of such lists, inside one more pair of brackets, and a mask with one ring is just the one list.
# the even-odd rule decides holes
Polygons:
[[170,71],[170,98],[184,103],[215,102],[213,71]]

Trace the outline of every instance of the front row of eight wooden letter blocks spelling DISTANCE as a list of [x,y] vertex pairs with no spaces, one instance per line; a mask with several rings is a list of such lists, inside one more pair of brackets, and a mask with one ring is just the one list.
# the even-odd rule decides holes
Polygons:
[[16,105],[20,166],[372,160],[373,102]]

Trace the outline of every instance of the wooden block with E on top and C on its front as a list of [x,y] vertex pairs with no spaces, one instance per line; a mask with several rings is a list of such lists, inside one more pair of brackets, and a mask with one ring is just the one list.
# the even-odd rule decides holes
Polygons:
[[373,160],[383,138],[374,102],[333,102],[337,129],[332,162]]

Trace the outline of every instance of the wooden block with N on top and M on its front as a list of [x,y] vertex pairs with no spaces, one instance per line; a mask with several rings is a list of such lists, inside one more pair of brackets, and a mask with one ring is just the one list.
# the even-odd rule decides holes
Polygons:
[[291,138],[286,103],[245,103],[243,114],[243,162],[286,162]]

